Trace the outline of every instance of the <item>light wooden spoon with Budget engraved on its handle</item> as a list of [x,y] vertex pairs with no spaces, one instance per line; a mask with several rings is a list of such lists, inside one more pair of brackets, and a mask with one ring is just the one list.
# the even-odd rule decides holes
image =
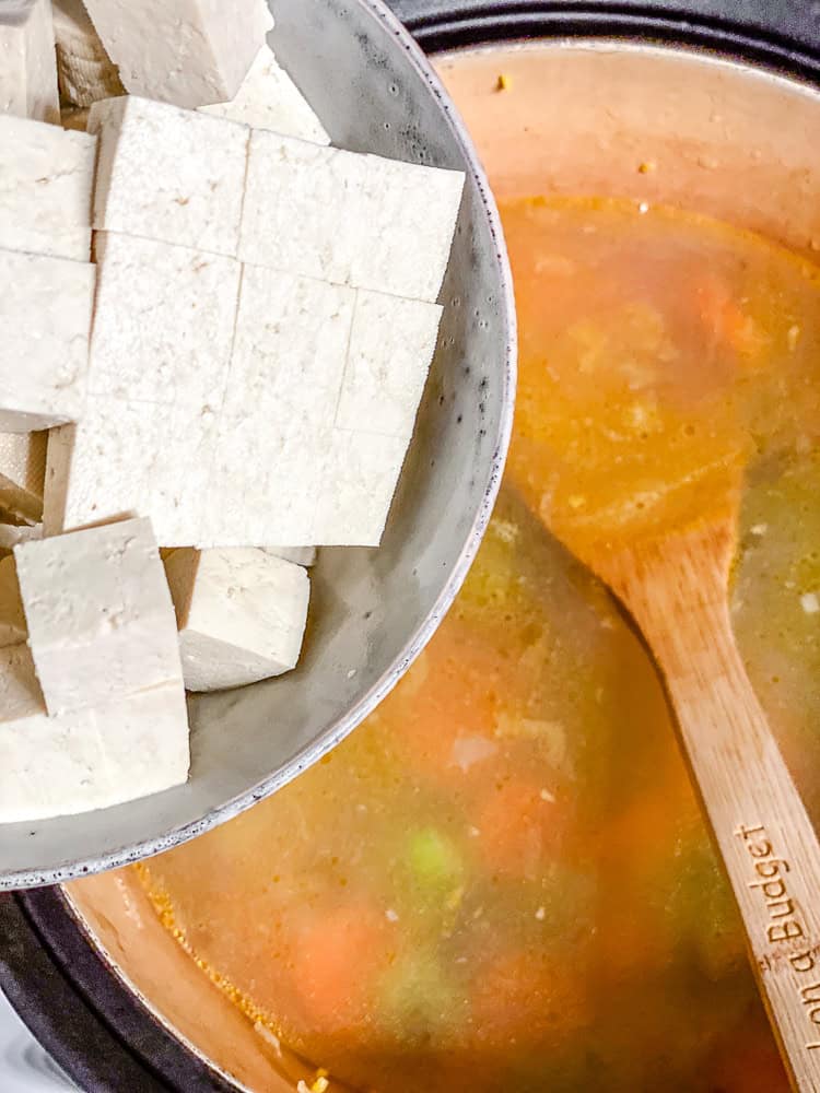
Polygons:
[[728,512],[689,530],[585,546],[584,561],[630,611],[666,678],[793,1084],[820,1093],[820,844],[735,643],[736,526]]

